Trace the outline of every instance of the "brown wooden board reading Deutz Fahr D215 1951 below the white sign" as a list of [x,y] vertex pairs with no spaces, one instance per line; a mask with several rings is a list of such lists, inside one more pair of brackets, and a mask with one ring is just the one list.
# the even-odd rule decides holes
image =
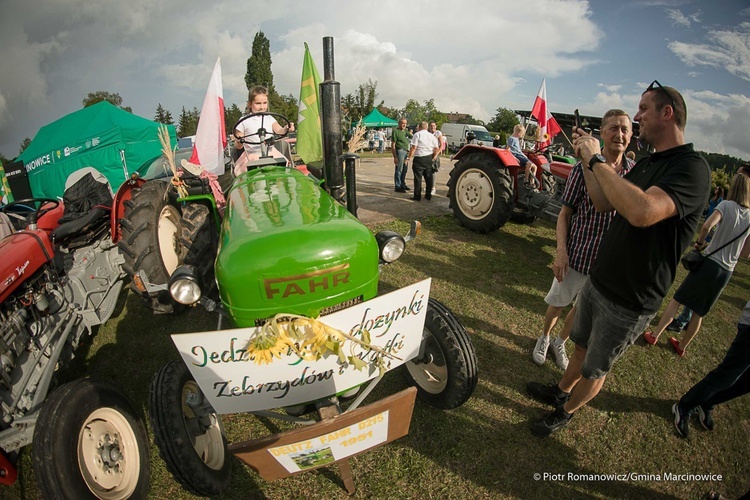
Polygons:
[[416,395],[410,387],[311,426],[231,444],[229,451],[266,481],[324,467],[408,434]]

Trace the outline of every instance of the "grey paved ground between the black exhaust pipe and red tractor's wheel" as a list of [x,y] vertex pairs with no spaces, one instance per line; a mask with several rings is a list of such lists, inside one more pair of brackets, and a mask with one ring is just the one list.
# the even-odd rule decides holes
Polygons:
[[[432,215],[448,215],[448,182],[452,162],[447,156],[441,159],[436,173],[437,194],[427,201],[411,201],[412,192],[396,193],[393,190],[393,160],[391,158],[362,158],[357,165],[357,216],[365,224],[386,222],[392,219],[411,221]],[[413,188],[411,165],[406,184]],[[424,190],[424,180],[422,182]]]

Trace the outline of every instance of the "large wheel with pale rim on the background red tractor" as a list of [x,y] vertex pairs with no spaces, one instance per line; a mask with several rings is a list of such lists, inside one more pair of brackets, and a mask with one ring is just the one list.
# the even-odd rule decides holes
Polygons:
[[510,219],[513,179],[496,157],[468,154],[456,162],[451,172],[448,196],[461,225],[477,233],[488,233]]

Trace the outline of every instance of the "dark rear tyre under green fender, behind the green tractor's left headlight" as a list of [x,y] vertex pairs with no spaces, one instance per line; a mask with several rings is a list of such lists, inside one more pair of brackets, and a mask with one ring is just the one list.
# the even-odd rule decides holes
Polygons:
[[180,220],[180,245],[185,250],[182,262],[195,266],[200,272],[202,291],[213,299],[218,298],[214,261],[216,260],[211,236],[211,210],[199,203],[190,203],[182,209]]

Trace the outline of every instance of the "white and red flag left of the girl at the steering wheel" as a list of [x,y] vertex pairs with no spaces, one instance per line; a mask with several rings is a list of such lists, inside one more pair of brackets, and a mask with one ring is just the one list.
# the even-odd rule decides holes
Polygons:
[[212,174],[221,175],[224,173],[224,148],[226,147],[224,91],[221,86],[221,58],[218,58],[211,80],[208,82],[206,97],[203,99],[190,163],[200,165]]

